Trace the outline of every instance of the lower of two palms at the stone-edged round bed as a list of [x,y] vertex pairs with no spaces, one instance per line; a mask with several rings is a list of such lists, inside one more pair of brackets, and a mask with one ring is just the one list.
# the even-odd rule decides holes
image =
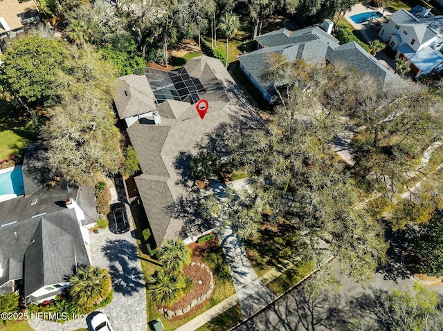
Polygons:
[[146,290],[152,300],[167,307],[183,296],[185,287],[185,278],[179,272],[160,269],[146,279]]

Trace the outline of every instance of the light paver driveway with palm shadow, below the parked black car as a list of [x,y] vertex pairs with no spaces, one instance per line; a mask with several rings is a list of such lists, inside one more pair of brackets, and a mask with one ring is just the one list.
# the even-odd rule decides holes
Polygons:
[[[114,331],[147,331],[145,280],[132,231],[113,234],[102,229],[90,237],[92,265],[109,269],[114,287],[114,300],[100,312],[107,314]],[[73,331],[87,328],[87,321],[30,320],[29,325],[36,331]]]

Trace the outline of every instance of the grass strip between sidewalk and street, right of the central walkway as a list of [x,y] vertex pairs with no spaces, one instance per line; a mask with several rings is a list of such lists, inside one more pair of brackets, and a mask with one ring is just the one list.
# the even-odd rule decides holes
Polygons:
[[266,285],[276,296],[283,294],[291,286],[301,281],[309,272],[315,269],[314,262],[300,261],[287,269],[283,274]]

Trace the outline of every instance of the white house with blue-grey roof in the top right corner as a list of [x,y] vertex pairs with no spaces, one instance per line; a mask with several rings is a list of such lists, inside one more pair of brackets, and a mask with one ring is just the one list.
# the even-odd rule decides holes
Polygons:
[[383,24],[379,37],[397,51],[395,57],[409,60],[414,77],[443,69],[443,16],[432,15],[429,8],[397,10]]

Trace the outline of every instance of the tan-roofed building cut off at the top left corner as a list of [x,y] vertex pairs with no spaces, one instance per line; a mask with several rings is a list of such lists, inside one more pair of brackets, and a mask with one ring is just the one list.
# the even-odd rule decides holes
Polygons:
[[5,42],[28,30],[34,22],[42,21],[34,0],[19,3],[17,0],[0,1],[0,53]]

